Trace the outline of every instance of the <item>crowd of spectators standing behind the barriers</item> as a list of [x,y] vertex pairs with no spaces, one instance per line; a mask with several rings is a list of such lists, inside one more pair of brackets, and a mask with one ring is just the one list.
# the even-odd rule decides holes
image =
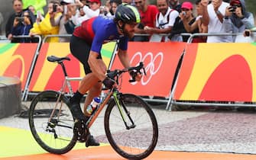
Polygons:
[[[132,41],[183,41],[195,33],[223,34],[193,37],[193,42],[250,42],[247,33],[254,31],[254,16],[245,7],[245,0],[12,0],[14,13],[8,18],[5,34],[12,43],[36,42],[33,38],[14,36],[58,34],[47,42],[69,42],[74,27],[96,16],[115,18],[118,5],[129,3],[138,8],[141,23],[135,27]],[[47,13],[42,9],[47,5]],[[1,21],[0,21],[1,23]],[[186,34],[185,34],[186,33]],[[238,34],[240,33],[240,34]],[[242,34],[244,33],[244,34]],[[230,35],[232,34],[232,35]],[[63,37],[61,35],[64,35]],[[245,38],[248,36],[248,38]]]

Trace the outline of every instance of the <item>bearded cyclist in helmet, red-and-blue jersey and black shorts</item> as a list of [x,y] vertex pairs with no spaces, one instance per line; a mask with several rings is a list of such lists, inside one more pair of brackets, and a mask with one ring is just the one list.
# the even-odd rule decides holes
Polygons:
[[[112,88],[112,85],[115,85],[115,82],[105,75],[107,67],[100,53],[102,44],[110,40],[119,40],[118,58],[125,68],[129,67],[128,39],[134,36],[134,27],[140,21],[140,14],[134,6],[122,4],[118,6],[114,19],[99,16],[83,21],[82,24],[75,28],[70,40],[70,51],[79,62],[83,63],[83,68],[86,72],[86,76],[80,82],[78,90],[70,98],[70,110],[79,124],[89,119],[90,115],[86,112],[86,107],[90,104],[92,98],[99,96],[102,83],[106,88]],[[130,75],[136,81],[141,80],[142,75],[139,73],[130,72]],[[87,91],[83,113],[79,102]],[[79,126],[79,131],[83,132],[81,126],[83,125]],[[80,133],[79,135],[83,134]],[[80,142],[86,141],[86,137],[83,136],[78,137],[78,139]],[[89,134],[86,146],[99,146],[99,142],[96,142],[96,139]]]

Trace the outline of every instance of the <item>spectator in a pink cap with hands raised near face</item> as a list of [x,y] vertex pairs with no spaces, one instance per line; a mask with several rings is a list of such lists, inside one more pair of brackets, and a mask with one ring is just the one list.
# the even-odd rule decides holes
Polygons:
[[[187,40],[189,39],[189,36],[181,37],[177,34],[187,33],[185,25],[191,26],[195,21],[196,21],[196,18],[193,17],[193,4],[191,2],[183,2],[183,4],[181,5],[180,16],[176,18],[169,38],[172,41],[187,42]],[[198,28],[196,28],[195,30],[190,30],[190,33],[193,33],[193,34],[199,33],[199,30]]]

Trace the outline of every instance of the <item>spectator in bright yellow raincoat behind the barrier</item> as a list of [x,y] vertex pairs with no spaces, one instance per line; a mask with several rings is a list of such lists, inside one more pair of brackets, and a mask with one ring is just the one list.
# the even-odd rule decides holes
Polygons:
[[[33,27],[31,28],[30,35],[41,35],[42,37],[49,35],[49,34],[58,34],[59,33],[59,26],[53,27],[50,24],[50,14],[53,13],[53,5],[60,6],[60,3],[56,0],[52,0],[48,4],[48,12],[43,21],[40,23],[34,23]],[[58,16],[61,13],[56,14]],[[59,42],[58,37],[50,37],[46,40],[46,42]]]

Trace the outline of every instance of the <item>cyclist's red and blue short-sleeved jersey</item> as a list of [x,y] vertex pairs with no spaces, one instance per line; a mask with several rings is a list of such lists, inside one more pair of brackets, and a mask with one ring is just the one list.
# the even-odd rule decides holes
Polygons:
[[102,44],[109,40],[119,40],[121,50],[128,48],[128,37],[118,33],[118,27],[111,18],[99,16],[83,21],[75,28],[73,35],[85,40],[96,53],[100,53]]

